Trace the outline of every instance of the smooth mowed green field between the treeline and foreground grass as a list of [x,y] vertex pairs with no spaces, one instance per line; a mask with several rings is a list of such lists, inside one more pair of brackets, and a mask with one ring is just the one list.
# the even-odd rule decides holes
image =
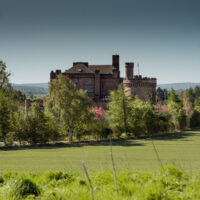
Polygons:
[[[200,130],[157,137],[153,142],[163,165],[200,171]],[[113,156],[117,170],[160,168],[150,139],[113,142]],[[0,150],[1,171],[82,171],[82,160],[91,172],[111,169],[109,143]]]

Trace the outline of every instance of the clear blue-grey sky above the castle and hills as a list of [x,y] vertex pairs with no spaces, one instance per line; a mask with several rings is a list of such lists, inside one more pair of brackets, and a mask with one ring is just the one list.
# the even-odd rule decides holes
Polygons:
[[200,82],[200,0],[0,0],[0,60],[13,83],[48,82],[75,61],[111,64],[112,54],[122,75],[133,61],[158,83]]

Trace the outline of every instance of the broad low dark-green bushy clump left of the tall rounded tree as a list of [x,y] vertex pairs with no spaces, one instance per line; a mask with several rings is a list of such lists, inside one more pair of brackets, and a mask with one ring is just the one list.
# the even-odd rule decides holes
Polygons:
[[28,113],[15,113],[12,134],[13,138],[20,143],[27,141],[30,144],[44,144],[61,138],[53,116],[45,114],[37,104],[33,104],[32,110]]

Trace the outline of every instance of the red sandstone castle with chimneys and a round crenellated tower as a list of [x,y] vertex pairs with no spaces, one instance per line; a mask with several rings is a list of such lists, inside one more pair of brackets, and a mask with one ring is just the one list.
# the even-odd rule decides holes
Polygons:
[[132,96],[138,95],[145,99],[147,93],[152,95],[153,101],[156,94],[156,78],[147,78],[134,75],[134,63],[125,63],[125,78],[120,77],[119,55],[112,56],[111,65],[89,65],[88,62],[74,62],[73,66],[61,72],[51,71],[50,81],[57,75],[69,77],[77,89],[86,90],[94,104],[103,104],[109,100],[110,91],[124,84],[125,91]]

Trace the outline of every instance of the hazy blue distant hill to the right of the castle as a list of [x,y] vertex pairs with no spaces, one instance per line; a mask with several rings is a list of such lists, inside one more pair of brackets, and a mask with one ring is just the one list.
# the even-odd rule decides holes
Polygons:
[[200,83],[168,83],[168,84],[158,84],[157,87],[162,89],[174,89],[174,90],[185,90],[188,88],[194,88],[196,86],[200,86]]

